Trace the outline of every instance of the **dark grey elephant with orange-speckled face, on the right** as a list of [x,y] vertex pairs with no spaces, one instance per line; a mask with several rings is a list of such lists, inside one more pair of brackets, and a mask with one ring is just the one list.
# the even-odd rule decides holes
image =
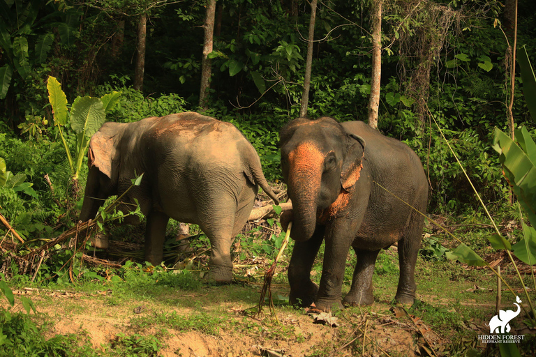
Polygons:
[[[424,218],[384,188],[424,213],[428,185],[415,153],[361,121],[339,124],[323,117],[295,119],[280,132],[281,168],[292,199],[295,239],[288,280],[290,303],[342,308],[341,287],[348,250],[357,264],[345,305],[371,305],[372,274],[382,248],[398,242],[400,279],[396,300],[415,298],[415,263]],[[311,282],[314,259],[325,239],[320,287]]]

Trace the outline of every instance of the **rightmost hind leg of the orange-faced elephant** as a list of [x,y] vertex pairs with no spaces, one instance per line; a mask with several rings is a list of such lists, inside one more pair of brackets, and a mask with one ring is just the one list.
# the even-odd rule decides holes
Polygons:
[[423,225],[424,217],[413,211],[408,229],[406,229],[398,244],[400,278],[394,298],[399,303],[412,304],[415,300],[415,291],[417,291],[415,264],[417,264],[419,248],[421,248]]

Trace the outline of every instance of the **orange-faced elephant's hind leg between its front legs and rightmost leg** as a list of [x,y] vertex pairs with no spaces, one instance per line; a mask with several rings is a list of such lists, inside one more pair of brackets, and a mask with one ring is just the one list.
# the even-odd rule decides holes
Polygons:
[[345,296],[343,303],[349,306],[372,305],[374,295],[372,275],[376,258],[380,250],[359,250],[354,248],[357,262],[355,264],[352,287]]

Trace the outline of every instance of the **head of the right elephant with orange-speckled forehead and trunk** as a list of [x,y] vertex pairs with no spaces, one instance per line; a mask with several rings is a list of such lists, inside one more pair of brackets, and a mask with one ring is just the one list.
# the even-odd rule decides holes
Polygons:
[[292,238],[306,241],[318,220],[343,208],[359,179],[365,142],[328,117],[290,121],[280,138],[281,169],[293,207]]

